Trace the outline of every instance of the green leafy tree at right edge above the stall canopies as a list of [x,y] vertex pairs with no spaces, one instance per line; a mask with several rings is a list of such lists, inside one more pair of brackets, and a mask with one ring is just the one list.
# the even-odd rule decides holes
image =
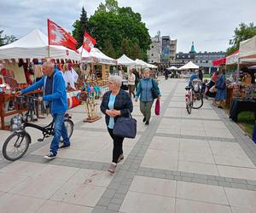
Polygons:
[[226,55],[230,55],[239,49],[239,44],[241,41],[247,40],[256,35],[256,26],[253,23],[249,23],[248,25],[245,23],[241,23],[239,27],[235,29],[235,36],[232,39],[233,45],[227,49]]

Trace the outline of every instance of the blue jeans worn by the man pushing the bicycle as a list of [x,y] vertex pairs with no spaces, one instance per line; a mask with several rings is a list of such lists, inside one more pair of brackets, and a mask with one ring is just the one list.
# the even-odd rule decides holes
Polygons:
[[67,136],[67,129],[63,123],[64,115],[65,115],[65,113],[52,114],[52,117],[54,118],[54,121],[55,121],[55,135],[54,135],[53,140],[51,141],[49,151],[52,152],[53,154],[57,154],[61,136],[63,138],[64,145],[65,146],[70,145],[70,141]]

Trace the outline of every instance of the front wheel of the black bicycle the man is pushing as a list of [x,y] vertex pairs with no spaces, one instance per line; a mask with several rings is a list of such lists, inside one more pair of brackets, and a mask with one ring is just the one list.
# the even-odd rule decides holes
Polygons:
[[20,159],[27,151],[31,142],[30,136],[26,132],[15,132],[3,143],[3,157],[15,161]]

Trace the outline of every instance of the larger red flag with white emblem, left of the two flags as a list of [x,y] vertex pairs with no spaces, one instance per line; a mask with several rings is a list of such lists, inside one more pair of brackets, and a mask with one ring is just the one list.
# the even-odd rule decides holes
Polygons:
[[64,46],[77,51],[77,40],[52,20],[48,20],[48,42],[49,45]]

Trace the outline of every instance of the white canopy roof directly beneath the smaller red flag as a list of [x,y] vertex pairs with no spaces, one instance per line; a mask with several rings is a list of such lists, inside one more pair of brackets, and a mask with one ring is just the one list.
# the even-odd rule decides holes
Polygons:
[[[90,53],[87,50],[83,49],[81,46],[79,49],[79,53],[82,52],[82,61],[84,62],[95,62],[99,64],[106,64],[106,65],[116,65],[117,60],[108,57],[108,55],[103,54],[100,49],[92,48],[90,49]],[[83,50],[83,51],[82,51]]]

